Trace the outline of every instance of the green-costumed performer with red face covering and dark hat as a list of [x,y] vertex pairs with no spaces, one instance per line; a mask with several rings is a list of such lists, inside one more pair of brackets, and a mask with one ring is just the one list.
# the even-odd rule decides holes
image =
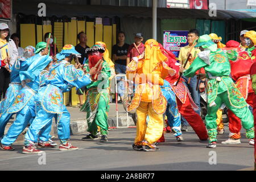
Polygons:
[[90,68],[96,67],[97,71],[100,71],[100,74],[93,75],[93,82],[86,86],[88,91],[86,93],[85,104],[82,106],[81,111],[86,111],[87,131],[90,134],[82,138],[82,140],[97,139],[98,127],[100,127],[101,142],[108,141],[110,67],[102,56],[104,51],[105,48],[98,45],[86,49],[86,53],[89,54],[84,64],[86,72],[89,72]]

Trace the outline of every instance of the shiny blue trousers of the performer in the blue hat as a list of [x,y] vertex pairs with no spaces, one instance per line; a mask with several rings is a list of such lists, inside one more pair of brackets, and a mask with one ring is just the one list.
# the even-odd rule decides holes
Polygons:
[[[28,128],[28,131],[25,135],[25,144],[29,142],[38,142],[38,135],[39,132],[46,128],[46,126],[51,126],[52,118],[55,117],[55,122],[58,129],[58,137],[60,140],[67,140],[70,138],[70,114],[65,106],[63,106],[63,113],[62,114],[55,114],[55,113],[47,113],[43,107],[39,104],[36,117],[32,122],[32,125]],[[44,130],[44,131],[46,131]],[[43,130],[42,130],[43,131]],[[49,133],[51,130],[48,130],[44,135],[43,141],[48,141]],[[39,138],[40,139],[40,138]],[[28,141],[28,142],[27,142]]]

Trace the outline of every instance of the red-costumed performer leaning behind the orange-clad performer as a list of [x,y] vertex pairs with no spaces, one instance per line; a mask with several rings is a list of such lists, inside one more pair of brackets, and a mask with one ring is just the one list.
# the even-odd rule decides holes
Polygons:
[[179,113],[188,121],[189,125],[196,132],[200,140],[207,140],[207,130],[205,128],[203,119],[197,114],[193,108],[197,108],[195,102],[193,102],[192,97],[189,93],[188,88],[183,84],[183,79],[179,80],[177,86],[174,86],[177,79],[179,78],[179,63],[176,62],[175,55],[164,49],[161,44],[159,44],[162,53],[168,58],[166,64],[168,67],[175,69],[174,75],[168,75],[165,80],[170,82],[172,90],[176,95],[177,106]]

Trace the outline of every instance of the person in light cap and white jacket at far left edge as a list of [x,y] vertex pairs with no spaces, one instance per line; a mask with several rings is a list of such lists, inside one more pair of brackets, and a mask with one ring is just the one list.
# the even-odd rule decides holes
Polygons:
[[5,60],[6,63],[0,67],[0,100],[2,95],[5,98],[6,90],[10,84],[10,68],[18,57],[16,45],[9,37],[10,28],[6,23],[0,23],[0,60]]

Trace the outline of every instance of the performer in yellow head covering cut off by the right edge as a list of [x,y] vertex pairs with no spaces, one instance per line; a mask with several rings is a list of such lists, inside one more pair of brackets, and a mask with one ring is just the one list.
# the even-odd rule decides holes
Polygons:
[[255,62],[256,61],[256,49],[255,49],[256,32],[253,30],[250,30],[245,32],[243,36],[245,37],[246,46],[248,47],[247,52],[251,57],[251,59]]

